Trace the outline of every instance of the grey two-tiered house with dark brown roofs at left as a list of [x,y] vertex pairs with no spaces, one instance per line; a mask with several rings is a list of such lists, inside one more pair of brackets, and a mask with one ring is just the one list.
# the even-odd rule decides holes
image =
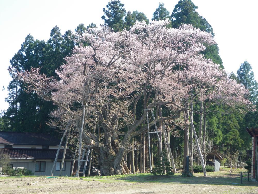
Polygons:
[[[13,168],[26,168],[34,175],[50,176],[59,144],[60,140],[51,135],[0,131],[0,158],[7,156]],[[63,151],[64,146],[60,148],[54,176],[59,175]],[[67,149],[62,176],[71,175],[69,153]]]

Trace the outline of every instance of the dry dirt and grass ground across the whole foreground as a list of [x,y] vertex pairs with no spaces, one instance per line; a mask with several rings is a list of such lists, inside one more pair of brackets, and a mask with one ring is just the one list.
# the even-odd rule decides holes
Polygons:
[[[27,185],[27,183],[38,184]],[[36,177],[1,177],[0,193],[258,193],[258,183],[247,182],[244,177],[240,183],[237,174],[225,172],[195,173],[195,177],[154,176],[150,174],[121,175],[110,177],[83,178],[47,178]]]

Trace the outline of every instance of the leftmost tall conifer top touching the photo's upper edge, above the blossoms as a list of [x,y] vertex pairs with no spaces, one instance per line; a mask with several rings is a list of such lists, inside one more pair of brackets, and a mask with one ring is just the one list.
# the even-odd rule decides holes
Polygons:
[[107,4],[107,9],[103,8],[104,15],[101,18],[105,21],[105,26],[114,30],[114,32],[124,29],[124,16],[126,14],[124,4],[119,0],[110,1]]

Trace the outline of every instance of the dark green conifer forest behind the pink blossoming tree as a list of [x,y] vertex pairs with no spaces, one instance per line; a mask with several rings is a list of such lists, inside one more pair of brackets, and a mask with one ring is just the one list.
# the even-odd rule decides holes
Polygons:
[[[104,26],[112,28],[114,32],[129,30],[136,21],[145,21],[149,24],[152,20],[168,19],[170,21],[168,28],[179,28],[182,24],[191,24],[215,36],[212,26],[196,12],[197,8],[191,0],[180,0],[171,12],[170,9],[164,7],[163,3],[159,3],[157,9],[154,10],[153,17],[149,20],[142,12],[136,10],[127,12],[124,4],[115,0],[110,1],[103,8],[104,14],[101,18],[104,20]],[[41,67],[41,73],[49,77],[57,77],[56,70],[66,62],[65,57],[72,55],[74,46],[78,43],[88,44],[83,40],[80,41],[82,34],[94,27],[96,27],[94,23],[88,26],[79,24],[74,32],[67,30],[62,35],[59,27],[55,26],[51,29],[48,41],[34,40],[30,34],[26,36],[21,49],[10,60],[9,73],[12,81],[8,85],[9,95],[6,98],[9,108],[1,113],[1,131],[52,133],[53,127],[48,123],[50,113],[56,106],[52,102],[40,99],[35,92],[27,93],[26,83],[17,78],[16,72]],[[217,44],[207,46],[202,54],[224,69]],[[246,98],[257,106],[258,84],[254,79],[251,65],[247,61],[235,65],[240,65],[240,68],[236,75],[231,73],[230,78],[243,84],[249,90]],[[194,101],[193,109],[198,110],[198,113],[193,114],[195,128],[199,129],[197,135],[213,142],[212,151],[223,154],[226,151],[240,150],[244,154],[245,150],[250,149],[251,138],[246,132],[246,127],[258,127],[257,111],[246,110],[244,107],[235,109],[209,100]],[[155,115],[166,115],[166,111],[166,108],[159,107]],[[136,114],[141,115],[142,112],[137,111]],[[184,125],[172,122],[169,127],[168,138],[172,153],[175,158],[183,158],[183,155],[188,155],[186,153],[188,147],[184,143],[186,142]],[[58,128],[55,130],[59,131]],[[151,138],[152,151],[155,155],[157,154],[157,138],[151,137],[153,137]],[[144,137],[141,137],[139,142],[142,143],[143,139]]]

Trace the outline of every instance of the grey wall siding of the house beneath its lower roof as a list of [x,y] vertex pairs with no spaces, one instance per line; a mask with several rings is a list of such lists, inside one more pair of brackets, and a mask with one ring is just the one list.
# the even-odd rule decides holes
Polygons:
[[[65,171],[62,171],[62,176],[70,176],[71,175],[71,162],[70,161],[65,161],[66,162],[66,169]],[[38,176],[50,176],[51,169],[53,167],[54,162],[46,162],[46,170],[45,172],[35,172],[35,162],[14,162],[11,163],[13,164],[13,168],[27,168],[31,170],[34,175]],[[59,171],[54,170],[54,176],[58,176]]]

